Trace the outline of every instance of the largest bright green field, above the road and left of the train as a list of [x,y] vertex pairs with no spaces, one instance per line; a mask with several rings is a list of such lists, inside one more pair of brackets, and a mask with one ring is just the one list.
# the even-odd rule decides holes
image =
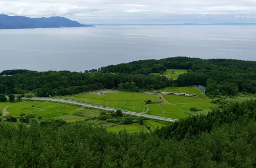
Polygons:
[[97,95],[96,93],[84,93],[70,96],[65,99],[114,108],[124,108],[129,111],[133,111],[134,107],[135,112],[141,113],[144,109],[145,100],[148,99],[156,101],[159,100],[159,96],[131,92],[107,93],[106,95]]

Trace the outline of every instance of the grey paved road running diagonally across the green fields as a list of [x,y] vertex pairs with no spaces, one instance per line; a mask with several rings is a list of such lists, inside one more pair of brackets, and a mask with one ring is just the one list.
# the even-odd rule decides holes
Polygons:
[[[74,104],[74,105],[80,105],[84,107],[92,107],[92,108],[97,108],[97,109],[103,109],[105,111],[116,111],[117,109],[114,108],[109,108],[109,107],[102,107],[102,106],[96,106],[96,105],[89,105],[85,104],[82,102],[77,102],[77,101],[72,101],[72,100],[64,100],[64,99],[51,99],[51,98],[32,98],[31,100],[44,100],[44,101],[57,101],[57,102],[64,102],[67,104]],[[165,117],[157,117],[154,115],[148,115],[148,114],[141,114],[141,113],[134,113],[134,112],[128,112],[128,111],[123,111],[124,114],[129,114],[129,115],[136,115],[139,117],[145,117],[145,118],[151,118],[151,119],[157,119],[157,120],[163,120],[163,121],[178,121],[176,119],[169,119]]]

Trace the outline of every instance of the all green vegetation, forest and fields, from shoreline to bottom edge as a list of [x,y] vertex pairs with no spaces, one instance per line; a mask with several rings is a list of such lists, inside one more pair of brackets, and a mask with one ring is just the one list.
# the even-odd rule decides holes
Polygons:
[[[16,118],[0,118],[0,165],[255,167],[255,67],[253,61],[173,57],[83,73],[5,70],[0,74],[0,110]],[[168,69],[180,69],[180,74],[170,77]],[[205,93],[198,85],[206,87]],[[107,93],[98,95],[99,90]],[[199,97],[151,91],[189,92]],[[23,93],[30,98],[32,94],[57,95],[118,110],[17,102]],[[120,109],[178,121],[129,116]]]

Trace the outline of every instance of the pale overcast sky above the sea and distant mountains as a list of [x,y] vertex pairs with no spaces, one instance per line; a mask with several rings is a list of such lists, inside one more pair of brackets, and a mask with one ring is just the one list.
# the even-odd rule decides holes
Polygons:
[[256,0],[0,0],[0,13],[103,24],[256,22]]

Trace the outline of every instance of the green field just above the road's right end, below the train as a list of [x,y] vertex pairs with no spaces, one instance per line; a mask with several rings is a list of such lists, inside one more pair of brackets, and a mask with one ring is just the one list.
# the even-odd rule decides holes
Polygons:
[[[173,106],[173,105],[170,105]],[[147,114],[149,115],[156,115],[159,117],[166,117],[166,118],[172,118],[172,119],[180,119],[179,117],[172,114],[172,111],[166,112],[160,104],[150,104],[148,105],[149,111]],[[177,107],[176,107],[177,108]],[[182,113],[182,111],[178,108],[179,112]]]

